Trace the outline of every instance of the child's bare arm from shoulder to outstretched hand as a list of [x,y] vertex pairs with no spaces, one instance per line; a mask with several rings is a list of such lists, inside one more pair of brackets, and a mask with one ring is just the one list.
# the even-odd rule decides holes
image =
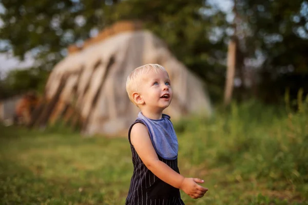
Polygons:
[[172,187],[182,189],[192,198],[199,198],[205,194],[207,189],[196,183],[202,183],[203,180],[185,178],[159,160],[145,125],[135,124],[131,129],[130,140],[144,165],[161,180]]

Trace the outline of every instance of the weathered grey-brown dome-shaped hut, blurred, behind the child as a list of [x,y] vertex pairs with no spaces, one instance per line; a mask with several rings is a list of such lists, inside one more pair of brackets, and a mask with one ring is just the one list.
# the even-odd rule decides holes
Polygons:
[[203,83],[161,39],[148,31],[122,32],[131,27],[113,28],[121,34],[88,45],[55,66],[37,126],[61,118],[66,126],[81,129],[85,135],[125,133],[139,112],[127,96],[126,79],[133,69],[148,63],[159,63],[168,70],[174,101],[165,113],[172,119],[193,113],[210,115]]

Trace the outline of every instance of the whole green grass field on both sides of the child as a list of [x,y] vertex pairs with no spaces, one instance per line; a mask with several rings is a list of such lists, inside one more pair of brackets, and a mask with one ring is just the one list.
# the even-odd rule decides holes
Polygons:
[[[179,167],[209,189],[189,204],[308,204],[308,106],[250,102],[175,122]],[[132,174],[127,138],[68,129],[0,127],[0,204],[124,204]]]

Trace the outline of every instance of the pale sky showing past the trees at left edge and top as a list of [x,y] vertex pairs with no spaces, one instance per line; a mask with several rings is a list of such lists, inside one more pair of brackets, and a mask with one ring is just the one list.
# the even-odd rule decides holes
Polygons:
[[[222,11],[228,13],[233,5],[232,0],[208,0],[210,4],[216,5]],[[0,13],[4,11],[3,6],[0,4]],[[0,19],[0,28],[3,25],[3,21]],[[26,56],[25,61],[20,61],[13,57],[11,54],[0,54],[0,78],[4,77],[5,74],[15,68],[23,69],[30,67],[33,64],[33,59],[30,55]]]

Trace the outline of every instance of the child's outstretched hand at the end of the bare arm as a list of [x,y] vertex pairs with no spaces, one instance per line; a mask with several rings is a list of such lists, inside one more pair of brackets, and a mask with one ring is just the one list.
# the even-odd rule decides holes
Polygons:
[[204,181],[202,179],[198,178],[184,178],[180,189],[183,190],[191,198],[201,198],[208,190],[207,188],[204,188],[197,184],[203,182]]

